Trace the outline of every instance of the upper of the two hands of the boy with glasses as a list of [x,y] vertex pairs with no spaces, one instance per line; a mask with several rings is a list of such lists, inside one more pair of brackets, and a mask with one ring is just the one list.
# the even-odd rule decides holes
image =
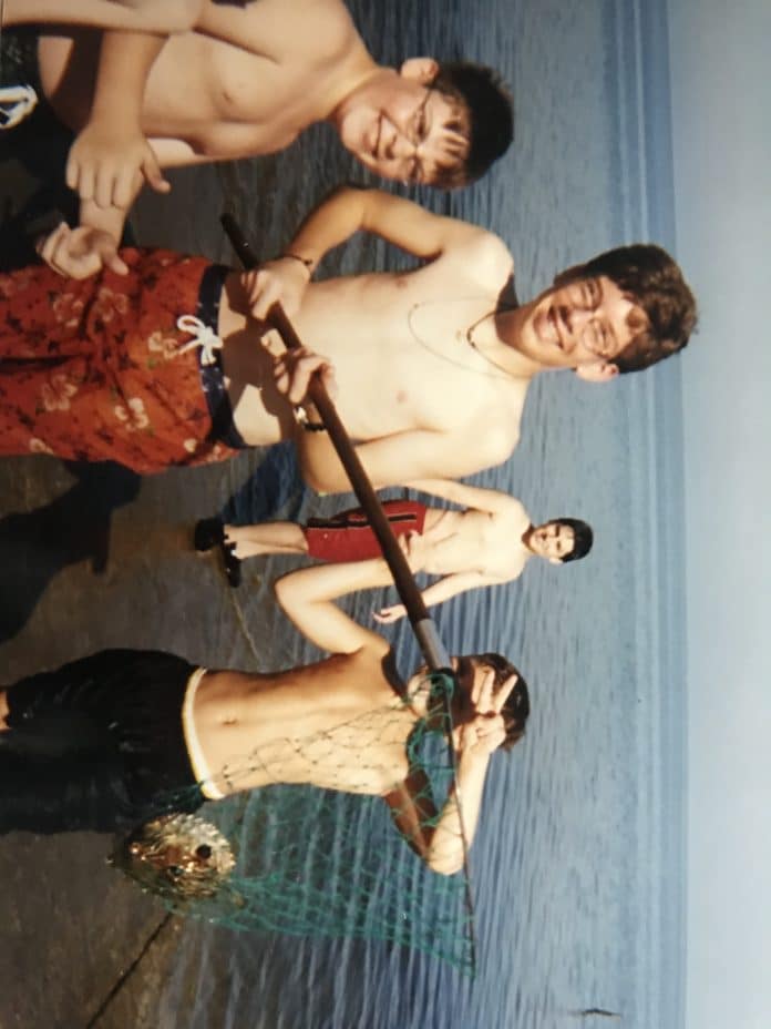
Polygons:
[[138,126],[127,128],[120,121],[110,126],[103,121],[90,122],[70,147],[66,184],[81,200],[125,211],[142,179],[157,193],[172,189]]

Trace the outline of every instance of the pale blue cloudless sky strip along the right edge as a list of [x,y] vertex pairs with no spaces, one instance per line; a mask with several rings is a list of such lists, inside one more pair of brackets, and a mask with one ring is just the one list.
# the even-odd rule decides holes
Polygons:
[[688,1029],[771,1026],[771,3],[669,0],[688,564]]

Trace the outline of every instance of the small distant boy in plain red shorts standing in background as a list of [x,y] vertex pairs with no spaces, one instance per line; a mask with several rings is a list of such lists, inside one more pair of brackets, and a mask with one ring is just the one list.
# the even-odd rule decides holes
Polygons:
[[[403,538],[413,572],[442,575],[423,590],[426,607],[484,585],[518,579],[532,557],[553,564],[577,561],[592,549],[593,532],[576,518],[553,518],[534,526],[523,505],[508,493],[481,489],[448,479],[409,483],[413,489],[463,506],[465,510],[429,508],[418,500],[383,503],[391,528]],[[270,553],[306,554],[321,561],[363,561],[371,570],[370,587],[391,581],[380,547],[363,511],[342,511],[331,519],[311,519],[307,526],[291,521],[257,526],[228,526],[204,519],[195,530],[197,550],[219,544],[228,581],[240,581],[240,562]],[[395,622],[405,614],[403,604],[383,608],[376,621]]]

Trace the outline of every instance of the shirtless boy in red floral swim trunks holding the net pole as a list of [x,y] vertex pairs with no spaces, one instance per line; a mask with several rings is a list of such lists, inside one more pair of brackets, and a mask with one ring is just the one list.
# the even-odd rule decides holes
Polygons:
[[[360,228],[423,263],[309,284]],[[58,236],[72,253],[90,232]],[[50,237],[53,264],[56,246]],[[348,490],[327,434],[302,430],[294,411],[331,363],[340,417],[376,486],[461,478],[511,455],[534,375],[573,368],[607,381],[676,353],[696,320],[680,269],[654,246],[610,251],[517,307],[497,236],[377,190],[333,193],[256,272],[166,251],[123,257],[130,275],[0,275],[0,454],[147,472],[295,439],[313,488]],[[276,299],[317,354],[275,356],[255,319]],[[268,346],[256,345],[261,334]],[[196,338],[210,352],[201,360],[219,364],[184,349]]]

